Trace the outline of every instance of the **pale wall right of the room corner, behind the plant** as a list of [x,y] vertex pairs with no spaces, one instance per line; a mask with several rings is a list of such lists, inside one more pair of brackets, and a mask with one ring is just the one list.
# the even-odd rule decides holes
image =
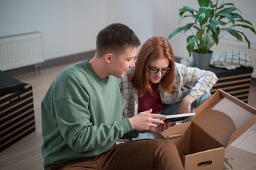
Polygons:
[[[216,3],[216,1],[213,0],[213,3]],[[242,11],[241,16],[243,16],[243,18],[247,21],[250,21],[252,26],[256,28],[255,0],[226,0],[225,3],[233,3],[236,7],[238,7],[240,11]],[[153,6],[152,35],[162,36],[165,38],[167,38],[169,34],[179,26],[184,26],[187,24],[186,19],[184,19],[179,25],[179,8],[189,6],[198,9],[199,7],[196,0],[153,0]],[[256,43],[256,35],[250,30],[243,29],[243,33],[247,35],[250,42]],[[227,36],[227,38],[233,39],[231,36]],[[187,52],[186,48],[187,39],[185,35],[179,33],[169,40],[169,42],[172,45],[175,56],[185,58],[189,57],[189,52]]]

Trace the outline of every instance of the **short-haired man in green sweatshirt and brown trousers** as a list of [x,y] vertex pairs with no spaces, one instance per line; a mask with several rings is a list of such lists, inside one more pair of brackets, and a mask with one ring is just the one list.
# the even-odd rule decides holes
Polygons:
[[165,115],[151,111],[122,117],[116,77],[134,67],[139,45],[133,30],[111,24],[97,35],[93,59],[57,75],[41,106],[45,169],[182,169],[176,147],[165,140],[115,145],[138,131],[160,133],[170,126]]

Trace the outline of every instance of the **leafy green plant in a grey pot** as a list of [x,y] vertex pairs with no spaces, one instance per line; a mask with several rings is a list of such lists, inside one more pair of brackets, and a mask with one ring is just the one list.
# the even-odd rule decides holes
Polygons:
[[[198,11],[188,6],[179,9],[180,21],[184,18],[193,18],[194,23],[187,23],[186,26],[177,28],[167,38],[170,40],[177,33],[184,33],[187,36],[187,50],[189,57],[193,53],[194,67],[208,69],[213,53],[210,49],[214,44],[218,45],[218,40],[226,33],[233,35],[238,41],[243,41],[245,38],[250,48],[250,41],[236,28],[248,28],[256,34],[255,29],[252,23],[240,16],[241,11],[234,4],[224,4],[222,1],[219,5],[218,0],[216,4],[211,0],[198,0],[198,4]],[[184,15],[185,13],[189,15]]]

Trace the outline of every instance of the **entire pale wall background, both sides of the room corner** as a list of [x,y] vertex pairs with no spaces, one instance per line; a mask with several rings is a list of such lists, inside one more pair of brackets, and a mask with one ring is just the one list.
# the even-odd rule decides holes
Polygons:
[[[256,27],[255,0],[226,2],[238,6]],[[179,27],[183,6],[198,5],[196,0],[0,0],[0,37],[38,30],[48,60],[94,50],[97,33],[110,23],[125,23],[142,43],[152,35],[167,38]],[[254,34],[243,32],[256,43]],[[170,43],[175,56],[189,57],[184,35],[175,35]]]

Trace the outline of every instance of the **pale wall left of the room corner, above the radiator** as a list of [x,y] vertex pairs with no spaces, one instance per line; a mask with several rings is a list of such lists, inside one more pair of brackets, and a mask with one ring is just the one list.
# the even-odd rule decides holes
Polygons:
[[152,1],[0,1],[0,37],[42,32],[45,60],[95,50],[99,30],[117,22],[145,42],[152,35]]

